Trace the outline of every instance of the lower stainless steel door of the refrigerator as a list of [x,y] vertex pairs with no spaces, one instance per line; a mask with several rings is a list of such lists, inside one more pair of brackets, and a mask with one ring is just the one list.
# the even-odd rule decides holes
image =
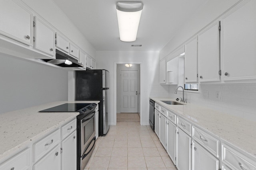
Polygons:
[[109,129],[109,123],[108,123],[108,88],[106,90],[102,90],[102,96],[103,96],[103,134],[107,134]]

